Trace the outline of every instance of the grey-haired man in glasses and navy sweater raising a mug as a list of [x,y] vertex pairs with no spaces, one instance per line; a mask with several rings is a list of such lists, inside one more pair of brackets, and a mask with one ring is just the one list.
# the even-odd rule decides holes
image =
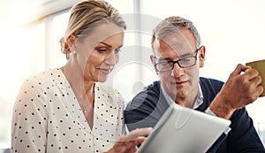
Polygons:
[[177,103],[231,120],[230,129],[208,152],[265,151],[245,108],[263,91],[256,70],[239,64],[225,83],[199,77],[205,46],[193,23],[180,17],[164,19],[155,27],[152,48],[150,58],[160,80],[128,103],[125,122],[130,131],[154,127],[170,103]]

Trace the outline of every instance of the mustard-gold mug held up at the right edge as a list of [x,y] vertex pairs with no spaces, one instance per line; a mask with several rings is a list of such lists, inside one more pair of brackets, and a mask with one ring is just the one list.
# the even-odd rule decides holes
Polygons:
[[246,65],[251,66],[252,68],[256,69],[259,72],[262,78],[261,86],[264,88],[264,91],[261,94],[261,96],[265,96],[265,59],[249,62],[246,63]]

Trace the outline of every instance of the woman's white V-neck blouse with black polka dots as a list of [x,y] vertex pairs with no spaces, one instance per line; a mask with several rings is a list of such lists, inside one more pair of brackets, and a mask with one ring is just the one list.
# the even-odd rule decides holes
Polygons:
[[104,152],[125,133],[124,99],[117,90],[95,84],[91,130],[60,69],[29,77],[13,108],[12,152]]

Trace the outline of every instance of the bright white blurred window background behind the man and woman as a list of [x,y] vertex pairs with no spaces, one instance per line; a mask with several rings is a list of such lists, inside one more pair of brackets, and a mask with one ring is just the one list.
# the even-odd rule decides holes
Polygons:
[[[157,80],[149,61],[152,29],[165,17],[193,21],[206,46],[201,76],[227,80],[239,63],[264,59],[265,1],[262,0],[106,0],[127,22],[120,62],[106,84],[126,102]],[[0,149],[11,146],[11,111],[23,80],[60,67],[69,11],[79,0],[1,0],[0,2]],[[265,70],[264,70],[265,71]],[[247,106],[265,142],[265,98]]]

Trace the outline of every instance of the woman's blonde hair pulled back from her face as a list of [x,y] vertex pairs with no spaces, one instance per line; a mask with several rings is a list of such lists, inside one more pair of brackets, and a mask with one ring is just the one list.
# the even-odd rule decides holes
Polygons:
[[103,0],[85,0],[72,7],[68,27],[64,37],[60,40],[61,51],[69,58],[70,49],[67,39],[75,35],[79,40],[85,38],[102,23],[112,22],[119,27],[126,28],[125,21],[117,9]]

